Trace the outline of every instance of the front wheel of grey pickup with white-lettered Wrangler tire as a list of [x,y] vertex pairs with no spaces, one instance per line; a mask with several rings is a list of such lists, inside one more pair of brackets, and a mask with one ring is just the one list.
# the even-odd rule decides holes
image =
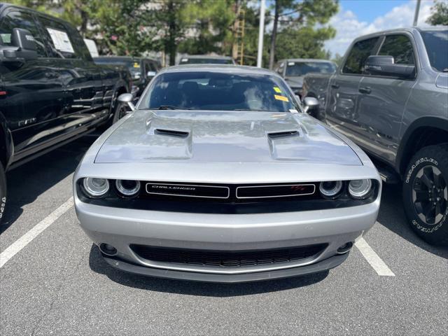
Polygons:
[[403,204],[417,235],[448,246],[448,145],[424,147],[414,155],[404,176]]

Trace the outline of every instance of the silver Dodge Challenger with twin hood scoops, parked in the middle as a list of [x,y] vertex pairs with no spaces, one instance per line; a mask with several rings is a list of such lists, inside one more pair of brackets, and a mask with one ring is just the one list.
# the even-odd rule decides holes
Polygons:
[[80,226],[113,267],[228,283],[322,272],[376,221],[377,169],[271,71],[173,66],[130,106],[73,177]]

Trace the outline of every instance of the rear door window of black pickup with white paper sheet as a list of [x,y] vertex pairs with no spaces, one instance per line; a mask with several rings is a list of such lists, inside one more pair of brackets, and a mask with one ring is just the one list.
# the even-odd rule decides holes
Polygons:
[[51,45],[53,57],[91,59],[85,42],[78,36],[78,31],[67,29],[62,22],[42,16],[39,16],[38,20],[45,30],[44,34]]

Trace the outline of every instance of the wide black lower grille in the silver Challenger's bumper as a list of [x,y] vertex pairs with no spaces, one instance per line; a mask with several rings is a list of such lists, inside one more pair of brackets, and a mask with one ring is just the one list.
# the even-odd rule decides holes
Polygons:
[[202,267],[250,267],[281,264],[311,258],[321,253],[326,244],[253,251],[207,251],[188,248],[160,248],[131,245],[140,258],[180,265]]

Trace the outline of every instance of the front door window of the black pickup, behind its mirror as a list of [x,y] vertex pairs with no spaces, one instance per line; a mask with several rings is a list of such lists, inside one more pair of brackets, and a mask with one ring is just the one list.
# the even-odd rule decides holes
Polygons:
[[12,45],[11,34],[13,34],[14,28],[27,29],[34,37],[37,46],[38,57],[47,57],[45,52],[45,45],[43,44],[42,36],[34,18],[31,13],[22,12],[19,10],[11,10],[5,15],[3,20],[0,22],[0,44],[1,45]]

